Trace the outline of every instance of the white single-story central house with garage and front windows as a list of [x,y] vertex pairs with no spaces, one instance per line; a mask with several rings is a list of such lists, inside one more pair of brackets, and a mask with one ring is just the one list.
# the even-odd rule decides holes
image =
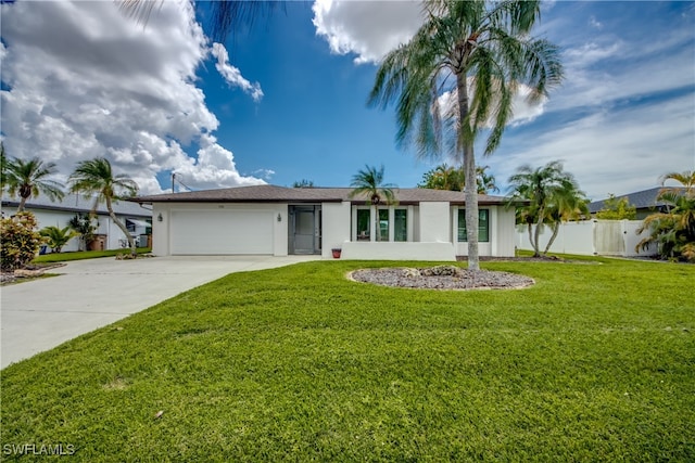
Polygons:
[[[152,205],[156,255],[316,254],[346,259],[454,260],[467,254],[462,192],[393,189],[378,218],[349,188],[239,187],[140,196]],[[515,211],[479,196],[480,255],[514,256]],[[377,240],[379,233],[379,240]]]

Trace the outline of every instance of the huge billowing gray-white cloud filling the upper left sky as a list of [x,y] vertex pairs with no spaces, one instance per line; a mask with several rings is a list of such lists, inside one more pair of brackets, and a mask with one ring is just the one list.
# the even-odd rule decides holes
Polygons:
[[[210,136],[219,123],[194,85],[210,49],[190,2],[162,2],[147,27],[111,1],[1,9],[10,155],[53,160],[61,180],[77,162],[106,156],[146,194],[161,191],[155,176],[163,170],[187,172],[194,188],[263,182],[240,176],[231,152]],[[198,141],[207,158],[195,163],[181,144]]]

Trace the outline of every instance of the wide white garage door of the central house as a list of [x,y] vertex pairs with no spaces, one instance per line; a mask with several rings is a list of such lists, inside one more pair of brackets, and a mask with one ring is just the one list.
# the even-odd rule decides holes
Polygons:
[[172,254],[273,254],[268,211],[173,210]]

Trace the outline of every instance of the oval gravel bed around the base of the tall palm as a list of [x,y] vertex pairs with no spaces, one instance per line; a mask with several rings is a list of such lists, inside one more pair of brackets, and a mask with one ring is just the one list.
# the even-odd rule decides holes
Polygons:
[[535,283],[533,279],[516,273],[473,271],[456,266],[361,269],[348,276],[362,283],[419,290],[518,290]]

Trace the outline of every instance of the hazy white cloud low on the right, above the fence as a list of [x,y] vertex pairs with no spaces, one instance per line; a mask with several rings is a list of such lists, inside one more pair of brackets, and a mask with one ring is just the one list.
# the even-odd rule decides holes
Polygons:
[[[658,184],[668,171],[695,165],[693,101],[684,95],[668,102],[596,111],[541,133],[510,133],[490,158],[498,183],[522,164],[565,162],[593,200],[626,194]],[[669,124],[662,120],[669,119]],[[479,159],[479,162],[482,162]]]

